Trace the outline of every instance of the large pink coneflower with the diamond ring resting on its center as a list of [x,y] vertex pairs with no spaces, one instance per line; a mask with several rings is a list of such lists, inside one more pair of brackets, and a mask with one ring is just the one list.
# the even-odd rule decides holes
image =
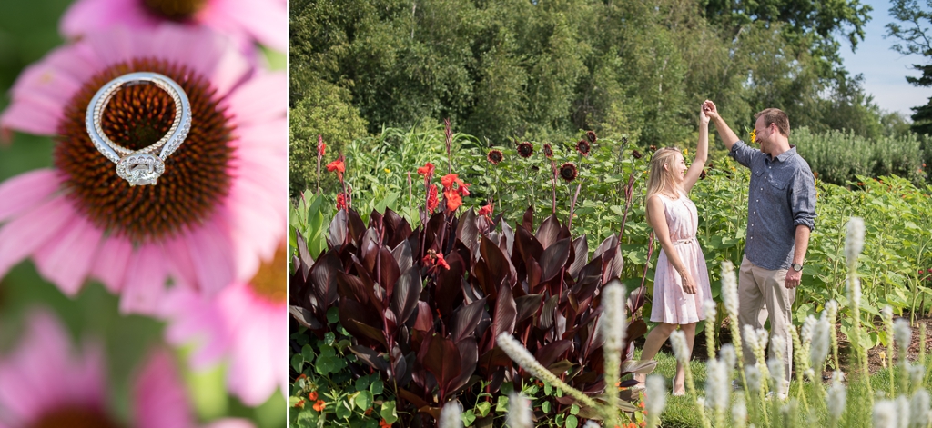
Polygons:
[[[90,143],[84,117],[105,82],[165,74],[191,100],[187,140],[155,186],[130,187]],[[207,29],[93,33],[52,51],[11,89],[0,128],[56,135],[54,167],[0,184],[0,276],[32,256],[40,274],[74,295],[88,277],[121,292],[123,312],[153,313],[169,279],[216,293],[275,252],[285,221],[288,166],[283,73],[258,73]],[[138,149],[173,120],[152,85],[117,92],[103,129]]]

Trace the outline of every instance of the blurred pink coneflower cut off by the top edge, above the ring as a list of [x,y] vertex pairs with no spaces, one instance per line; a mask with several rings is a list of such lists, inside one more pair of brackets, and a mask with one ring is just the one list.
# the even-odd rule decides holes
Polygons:
[[259,42],[288,49],[286,2],[267,0],[78,0],[62,16],[60,30],[76,39],[115,26],[153,29],[162,22],[208,27],[240,47]]

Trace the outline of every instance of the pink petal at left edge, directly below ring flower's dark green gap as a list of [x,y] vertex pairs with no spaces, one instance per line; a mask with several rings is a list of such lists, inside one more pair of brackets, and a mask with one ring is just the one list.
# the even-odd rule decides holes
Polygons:
[[35,207],[59,189],[54,169],[35,169],[0,183],[0,222]]

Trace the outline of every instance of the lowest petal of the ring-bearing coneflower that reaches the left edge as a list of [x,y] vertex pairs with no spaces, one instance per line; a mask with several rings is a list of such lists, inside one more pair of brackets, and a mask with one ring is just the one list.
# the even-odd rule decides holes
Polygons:
[[75,208],[59,196],[26,212],[0,228],[0,277],[9,268],[42,247],[65,223],[75,218]]

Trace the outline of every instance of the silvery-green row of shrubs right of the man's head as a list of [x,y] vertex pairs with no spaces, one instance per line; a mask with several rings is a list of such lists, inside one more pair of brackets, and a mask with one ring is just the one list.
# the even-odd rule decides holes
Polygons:
[[926,180],[922,144],[915,134],[869,140],[853,131],[815,133],[806,127],[793,130],[791,140],[821,181],[844,185],[856,176],[895,174],[917,186]]

